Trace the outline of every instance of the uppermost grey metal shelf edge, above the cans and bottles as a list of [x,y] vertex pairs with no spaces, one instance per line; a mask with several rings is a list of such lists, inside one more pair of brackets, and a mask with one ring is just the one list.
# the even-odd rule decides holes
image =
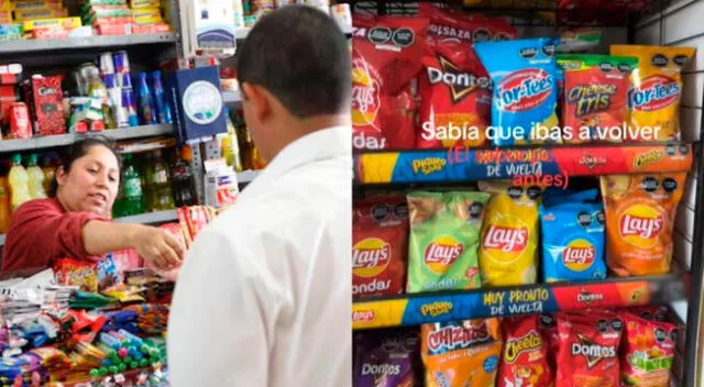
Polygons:
[[134,34],[122,36],[87,36],[62,40],[22,40],[0,43],[1,55],[22,54],[30,52],[84,49],[94,47],[120,47],[139,44],[175,43],[174,32],[162,34]]

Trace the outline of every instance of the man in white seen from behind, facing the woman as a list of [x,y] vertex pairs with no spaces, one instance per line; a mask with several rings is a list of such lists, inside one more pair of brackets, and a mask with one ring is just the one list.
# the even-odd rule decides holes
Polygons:
[[351,55],[326,13],[287,5],[238,51],[262,174],[202,231],[168,324],[174,387],[351,385]]

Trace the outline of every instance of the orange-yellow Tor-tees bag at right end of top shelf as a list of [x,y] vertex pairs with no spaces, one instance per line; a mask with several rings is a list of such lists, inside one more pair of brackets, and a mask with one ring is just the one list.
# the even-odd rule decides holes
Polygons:
[[636,135],[628,140],[680,140],[681,71],[694,55],[694,48],[612,45],[610,53],[638,58],[638,67],[631,74],[632,89],[628,98],[631,110],[629,123],[635,129],[651,128],[656,134],[654,139],[641,139],[641,132],[634,131]]

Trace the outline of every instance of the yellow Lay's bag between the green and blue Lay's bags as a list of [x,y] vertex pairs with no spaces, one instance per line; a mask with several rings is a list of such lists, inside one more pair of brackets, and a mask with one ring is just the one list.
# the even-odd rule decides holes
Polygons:
[[480,268],[484,286],[535,284],[538,259],[538,199],[540,189],[503,181],[480,181],[492,194],[482,225]]

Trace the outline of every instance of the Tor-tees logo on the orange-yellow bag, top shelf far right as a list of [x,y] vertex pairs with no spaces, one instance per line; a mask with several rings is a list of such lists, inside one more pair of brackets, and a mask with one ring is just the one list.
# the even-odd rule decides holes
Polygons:
[[656,111],[676,102],[680,91],[676,80],[659,74],[644,79],[639,88],[629,90],[628,101],[635,110]]

